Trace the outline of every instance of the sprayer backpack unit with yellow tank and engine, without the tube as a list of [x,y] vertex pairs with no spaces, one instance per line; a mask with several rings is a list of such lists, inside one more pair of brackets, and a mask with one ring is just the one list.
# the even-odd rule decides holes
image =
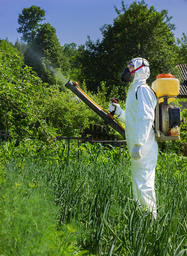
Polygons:
[[171,74],[160,74],[151,88],[157,97],[154,120],[156,140],[180,140],[179,127],[181,123],[185,124],[185,118],[181,120],[180,108],[171,103],[179,94],[179,80]]

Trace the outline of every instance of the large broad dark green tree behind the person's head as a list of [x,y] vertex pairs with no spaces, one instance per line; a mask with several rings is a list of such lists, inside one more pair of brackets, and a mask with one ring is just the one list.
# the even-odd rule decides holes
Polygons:
[[144,57],[150,63],[150,84],[159,73],[175,73],[177,54],[175,52],[174,24],[170,22],[167,10],[157,12],[148,8],[144,1],[125,5],[116,12],[113,24],[101,28],[103,39],[88,41],[79,47],[78,60],[82,65],[80,81],[86,79],[88,88],[96,91],[101,81],[109,91],[114,86],[125,96],[125,86],[120,74],[129,60]]

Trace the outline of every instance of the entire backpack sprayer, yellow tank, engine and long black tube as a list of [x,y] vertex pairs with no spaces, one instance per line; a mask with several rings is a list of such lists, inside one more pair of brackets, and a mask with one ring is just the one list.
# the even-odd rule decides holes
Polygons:
[[[69,80],[65,86],[125,139],[125,129],[114,118],[114,113],[108,113],[105,109],[101,108],[96,102],[90,99],[90,97],[78,86],[77,82],[73,83]],[[181,120],[180,108],[172,103],[179,94],[179,80],[174,78],[171,74],[160,74],[152,83],[151,88],[157,97],[154,120],[156,140],[180,140],[179,127],[181,123],[185,124],[185,118],[183,117]],[[112,99],[112,101],[118,103],[119,100]]]

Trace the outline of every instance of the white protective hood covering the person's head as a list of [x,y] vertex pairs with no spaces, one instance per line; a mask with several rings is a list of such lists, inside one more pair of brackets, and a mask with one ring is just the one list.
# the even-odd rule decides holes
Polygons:
[[[132,59],[132,63],[134,64],[134,68],[140,67],[143,63],[144,60],[144,65],[149,66],[149,62],[143,58],[134,58]],[[146,79],[150,76],[150,70],[149,67],[142,67],[135,72],[134,80],[131,84],[133,84],[135,87],[140,84],[145,84]]]

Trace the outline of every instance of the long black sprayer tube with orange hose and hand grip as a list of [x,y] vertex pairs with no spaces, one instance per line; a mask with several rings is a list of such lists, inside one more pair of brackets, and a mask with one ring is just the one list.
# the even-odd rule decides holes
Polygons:
[[[82,91],[78,83],[73,83],[69,80],[65,84],[66,88],[70,89],[79,99],[81,99],[89,108],[91,108],[97,115],[99,115],[106,124],[110,125],[115,131],[119,132],[125,139],[124,127],[114,118],[113,113],[108,113],[104,108],[100,107],[90,97]],[[118,99],[112,99],[113,102],[118,103]]]

